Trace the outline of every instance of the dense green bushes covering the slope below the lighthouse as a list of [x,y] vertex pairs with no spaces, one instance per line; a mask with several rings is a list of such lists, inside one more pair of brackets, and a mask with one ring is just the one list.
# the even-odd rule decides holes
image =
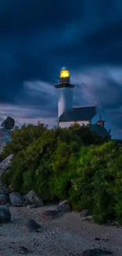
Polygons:
[[29,124],[12,133],[2,154],[13,153],[3,180],[15,191],[34,190],[44,201],[68,199],[94,221],[122,223],[122,148],[78,124],[48,129]]

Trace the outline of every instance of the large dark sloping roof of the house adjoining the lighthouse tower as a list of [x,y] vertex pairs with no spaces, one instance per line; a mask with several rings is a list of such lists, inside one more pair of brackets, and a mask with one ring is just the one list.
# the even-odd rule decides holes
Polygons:
[[72,110],[62,113],[59,122],[65,121],[91,121],[96,114],[96,106],[83,106],[73,108]]

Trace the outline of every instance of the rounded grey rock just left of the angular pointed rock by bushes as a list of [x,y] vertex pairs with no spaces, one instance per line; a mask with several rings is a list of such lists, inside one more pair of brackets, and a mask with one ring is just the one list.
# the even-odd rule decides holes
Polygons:
[[17,192],[10,193],[9,200],[13,206],[24,206],[24,197]]

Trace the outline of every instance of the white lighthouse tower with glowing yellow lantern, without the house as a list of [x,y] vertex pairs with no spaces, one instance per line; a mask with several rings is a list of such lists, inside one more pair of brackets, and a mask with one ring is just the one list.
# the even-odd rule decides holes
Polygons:
[[58,118],[62,113],[72,109],[73,105],[73,93],[72,89],[74,84],[70,83],[70,75],[68,69],[62,68],[60,72],[60,83],[55,85],[58,89]]

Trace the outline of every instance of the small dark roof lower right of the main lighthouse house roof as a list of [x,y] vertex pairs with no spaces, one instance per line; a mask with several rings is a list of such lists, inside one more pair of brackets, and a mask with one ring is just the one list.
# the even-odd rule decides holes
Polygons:
[[109,132],[105,129],[104,126],[98,124],[90,124],[91,131],[96,132],[100,136],[110,137]]

